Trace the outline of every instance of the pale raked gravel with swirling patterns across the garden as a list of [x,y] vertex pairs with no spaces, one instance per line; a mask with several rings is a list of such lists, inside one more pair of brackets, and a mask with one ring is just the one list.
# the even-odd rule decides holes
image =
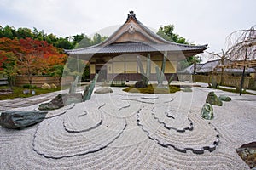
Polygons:
[[207,121],[208,88],[113,91],[49,111],[33,127],[0,127],[0,169],[249,169],[235,149],[256,140],[255,96],[215,90],[232,101],[213,106]]

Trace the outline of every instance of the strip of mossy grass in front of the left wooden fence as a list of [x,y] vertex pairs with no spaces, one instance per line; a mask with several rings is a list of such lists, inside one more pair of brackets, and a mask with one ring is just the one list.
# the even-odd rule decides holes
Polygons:
[[[6,89],[8,87],[0,87],[0,89]],[[22,87],[14,87],[13,88],[13,94],[0,94],[0,100],[3,99],[15,99],[15,98],[28,98],[33,96],[32,92],[30,92],[29,94],[23,94],[23,90],[26,90],[28,88],[22,88]],[[47,94],[50,92],[55,92],[55,91],[59,91],[61,90],[60,88],[51,88],[51,89],[42,89],[42,88],[33,88],[33,90],[35,90],[36,94],[35,95],[39,95],[39,94]],[[32,91],[32,89],[30,89],[30,91]]]

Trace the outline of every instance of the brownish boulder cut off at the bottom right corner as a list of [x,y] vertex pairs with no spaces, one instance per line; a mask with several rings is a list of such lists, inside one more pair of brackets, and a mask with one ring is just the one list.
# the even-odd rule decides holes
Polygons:
[[256,167],[256,142],[242,144],[236,152],[250,168]]

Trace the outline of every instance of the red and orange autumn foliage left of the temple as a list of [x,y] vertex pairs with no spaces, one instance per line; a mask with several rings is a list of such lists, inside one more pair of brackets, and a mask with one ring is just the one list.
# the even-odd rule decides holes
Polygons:
[[48,75],[55,65],[64,65],[67,55],[45,41],[0,38],[0,70],[7,73],[7,65],[14,59],[17,74],[26,75],[31,82],[32,75]]

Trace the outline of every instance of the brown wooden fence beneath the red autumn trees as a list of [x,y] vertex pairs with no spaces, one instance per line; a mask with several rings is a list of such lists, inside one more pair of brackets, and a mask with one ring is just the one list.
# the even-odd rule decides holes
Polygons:
[[[61,82],[59,77],[48,77],[48,76],[33,76],[32,85],[41,87],[44,83],[55,84],[56,86],[66,85],[73,82],[73,77],[62,77]],[[23,86],[24,84],[29,84],[28,78],[26,76],[18,76],[15,79],[15,86]]]

